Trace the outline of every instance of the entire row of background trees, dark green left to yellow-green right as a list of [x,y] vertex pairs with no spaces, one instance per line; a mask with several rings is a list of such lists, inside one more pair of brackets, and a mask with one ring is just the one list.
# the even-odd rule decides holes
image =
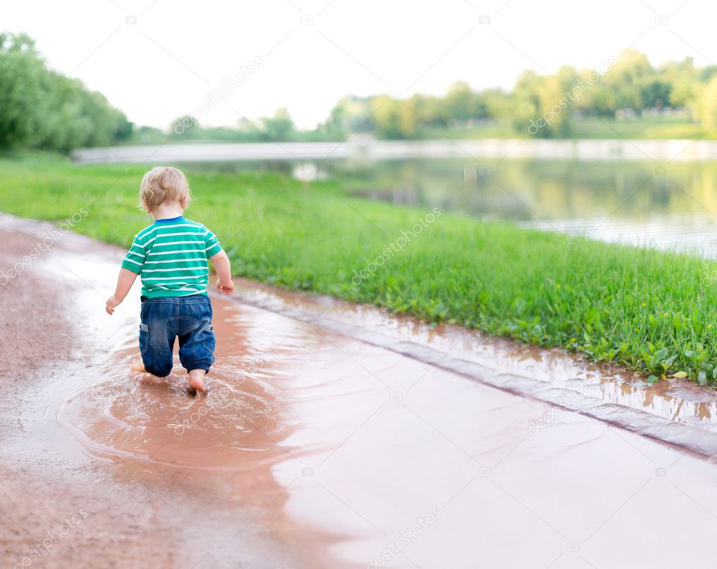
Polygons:
[[472,89],[457,82],[444,96],[347,95],[315,130],[298,131],[288,110],[272,117],[242,119],[234,127],[202,127],[179,117],[168,132],[134,127],[124,113],[82,82],[55,72],[26,34],[0,33],[0,150],[40,148],[70,151],[137,142],[204,139],[219,142],[343,140],[353,133],[383,139],[435,136],[441,129],[508,125],[518,135],[570,137],[576,121],[671,117],[717,125],[717,65],[696,67],[688,57],[657,67],[645,54],[627,50],[594,69],[561,67],[554,74],[526,71],[511,90]]

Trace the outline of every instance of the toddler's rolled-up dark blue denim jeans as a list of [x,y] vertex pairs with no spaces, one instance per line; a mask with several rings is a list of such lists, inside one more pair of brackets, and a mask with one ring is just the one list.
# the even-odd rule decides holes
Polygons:
[[144,369],[164,377],[172,371],[174,339],[179,337],[179,361],[187,371],[214,364],[214,328],[209,296],[142,297],[139,348]]

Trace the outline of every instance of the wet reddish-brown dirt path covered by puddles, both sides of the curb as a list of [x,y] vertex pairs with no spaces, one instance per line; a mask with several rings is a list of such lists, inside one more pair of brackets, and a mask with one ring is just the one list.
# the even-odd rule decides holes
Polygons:
[[[5,218],[0,268],[45,228]],[[3,363],[19,377],[4,379],[0,407],[2,567],[635,569],[711,559],[712,462],[283,308],[579,384],[705,432],[713,392],[646,386],[560,351],[239,281],[243,301],[213,301],[209,396],[190,397],[179,365],[162,385],[131,371],[138,289],[104,312],[121,257],[68,234],[0,287]],[[48,535],[52,545],[38,548]]]

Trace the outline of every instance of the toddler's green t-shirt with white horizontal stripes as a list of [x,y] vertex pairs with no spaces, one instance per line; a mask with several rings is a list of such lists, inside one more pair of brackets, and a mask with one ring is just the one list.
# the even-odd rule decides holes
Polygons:
[[137,233],[122,267],[141,275],[147,298],[206,295],[206,259],[219,251],[222,246],[214,233],[180,215],[158,219]]

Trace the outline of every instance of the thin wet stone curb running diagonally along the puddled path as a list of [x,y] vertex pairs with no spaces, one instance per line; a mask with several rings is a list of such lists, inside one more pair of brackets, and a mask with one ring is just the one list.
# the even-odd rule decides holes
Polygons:
[[606,403],[602,399],[582,394],[574,389],[554,386],[548,381],[533,379],[519,374],[503,373],[497,369],[475,361],[448,356],[447,352],[433,349],[422,344],[403,341],[386,336],[376,331],[367,331],[361,326],[353,326],[343,321],[323,316],[323,313],[312,314],[299,308],[285,304],[277,305],[262,301],[237,291],[230,296],[233,301],[260,308],[328,329],[344,336],[357,339],[402,356],[409,357],[425,364],[450,371],[481,384],[495,387],[501,391],[537,399],[554,407],[592,417],[600,422],[641,434],[644,437],[672,444],[676,447],[701,454],[701,456],[717,462],[717,432],[692,427],[688,424],[670,421],[664,417],[628,407],[617,403]]

